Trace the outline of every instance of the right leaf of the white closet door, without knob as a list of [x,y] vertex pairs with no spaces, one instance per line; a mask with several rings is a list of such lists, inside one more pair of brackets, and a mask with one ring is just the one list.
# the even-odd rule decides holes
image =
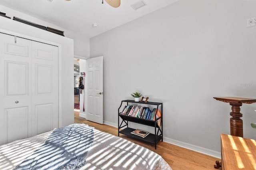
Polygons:
[[58,47],[32,42],[32,134],[58,128]]

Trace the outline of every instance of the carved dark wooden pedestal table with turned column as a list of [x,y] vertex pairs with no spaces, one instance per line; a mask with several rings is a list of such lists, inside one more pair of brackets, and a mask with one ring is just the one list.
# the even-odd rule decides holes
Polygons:
[[[243,97],[214,97],[214,99],[229,103],[231,105],[232,112],[230,112],[230,116],[232,117],[230,118],[230,135],[244,137],[243,120],[240,119],[240,117],[242,117],[243,115],[242,113],[240,113],[240,106],[242,106],[243,103],[255,103],[256,99],[248,99]],[[220,167],[221,164],[216,161],[216,165],[214,165],[214,168],[218,169]]]

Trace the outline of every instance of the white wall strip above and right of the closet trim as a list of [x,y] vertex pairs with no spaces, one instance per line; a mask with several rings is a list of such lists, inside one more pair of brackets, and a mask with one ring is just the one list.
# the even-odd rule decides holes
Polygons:
[[59,73],[61,73],[59,76],[59,99],[61,101],[59,126],[62,127],[74,123],[73,40],[4,17],[0,17],[0,29],[1,32],[2,30],[7,30],[7,32],[11,32],[12,35],[50,44],[53,42],[60,45],[60,64],[58,66]]

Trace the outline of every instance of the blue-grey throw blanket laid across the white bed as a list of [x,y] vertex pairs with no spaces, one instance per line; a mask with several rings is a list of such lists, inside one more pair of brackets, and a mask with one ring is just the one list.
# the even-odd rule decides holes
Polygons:
[[14,170],[58,170],[84,166],[84,158],[94,140],[93,129],[84,124],[54,129],[46,142]]

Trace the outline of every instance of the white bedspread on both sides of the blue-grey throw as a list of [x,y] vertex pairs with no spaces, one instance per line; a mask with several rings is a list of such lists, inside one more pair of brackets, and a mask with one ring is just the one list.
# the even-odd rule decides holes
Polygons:
[[[74,124],[76,125],[76,124]],[[86,125],[88,127],[88,125]],[[84,166],[75,168],[79,170],[172,170],[166,161],[155,152],[140,145],[134,144],[120,137],[93,129],[94,140],[90,147],[86,148]],[[51,132],[36,135],[32,138],[17,140],[0,146],[0,169],[11,170],[26,161],[36,150],[40,149]],[[68,139],[68,138],[67,138]],[[72,139],[68,139],[72,140]],[[74,140],[75,142],[75,140]],[[75,142],[76,143],[76,142]],[[73,148],[74,152],[79,148]],[[47,152],[46,152],[47,153]],[[79,155],[79,154],[78,154]],[[80,156],[80,158],[83,156]],[[31,157],[30,157],[31,158]],[[58,157],[62,162],[65,156]],[[44,160],[49,160],[43,156]],[[70,159],[72,160],[73,157]],[[44,163],[43,163],[44,164]],[[66,164],[66,162],[65,162]],[[69,164],[69,163],[67,163]],[[45,165],[44,165],[45,166]],[[64,169],[44,167],[44,169]],[[29,169],[29,168],[28,168]]]

